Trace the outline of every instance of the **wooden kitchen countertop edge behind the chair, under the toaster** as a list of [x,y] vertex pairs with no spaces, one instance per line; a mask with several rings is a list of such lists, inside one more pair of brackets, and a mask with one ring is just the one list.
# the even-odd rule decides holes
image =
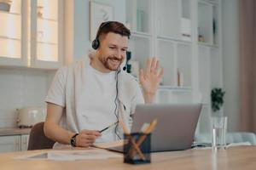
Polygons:
[[31,128],[1,127],[0,128],[0,136],[29,134],[30,131],[31,131]]

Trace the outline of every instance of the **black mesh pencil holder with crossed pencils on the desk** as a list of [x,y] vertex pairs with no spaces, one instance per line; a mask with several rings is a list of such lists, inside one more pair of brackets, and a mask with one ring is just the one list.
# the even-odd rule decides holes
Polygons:
[[151,162],[151,133],[125,134],[124,162],[142,164]]

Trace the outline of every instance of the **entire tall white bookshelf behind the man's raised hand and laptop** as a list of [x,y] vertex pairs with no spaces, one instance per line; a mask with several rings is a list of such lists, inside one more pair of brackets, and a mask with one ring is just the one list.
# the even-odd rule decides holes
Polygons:
[[131,60],[142,68],[148,57],[160,59],[157,103],[203,104],[197,133],[209,130],[212,88],[223,87],[220,16],[221,0],[126,0]]

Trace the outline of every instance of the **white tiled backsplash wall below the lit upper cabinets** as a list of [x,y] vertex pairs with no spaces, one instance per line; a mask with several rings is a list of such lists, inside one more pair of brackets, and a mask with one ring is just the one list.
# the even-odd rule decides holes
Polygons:
[[55,71],[0,68],[0,127],[15,127],[16,109],[44,106],[44,97]]

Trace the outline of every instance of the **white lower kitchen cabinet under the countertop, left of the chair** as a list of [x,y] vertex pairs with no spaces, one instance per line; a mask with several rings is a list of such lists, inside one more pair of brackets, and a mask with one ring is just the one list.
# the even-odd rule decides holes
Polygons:
[[29,135],[0,136],[0,152],[27,150]]

